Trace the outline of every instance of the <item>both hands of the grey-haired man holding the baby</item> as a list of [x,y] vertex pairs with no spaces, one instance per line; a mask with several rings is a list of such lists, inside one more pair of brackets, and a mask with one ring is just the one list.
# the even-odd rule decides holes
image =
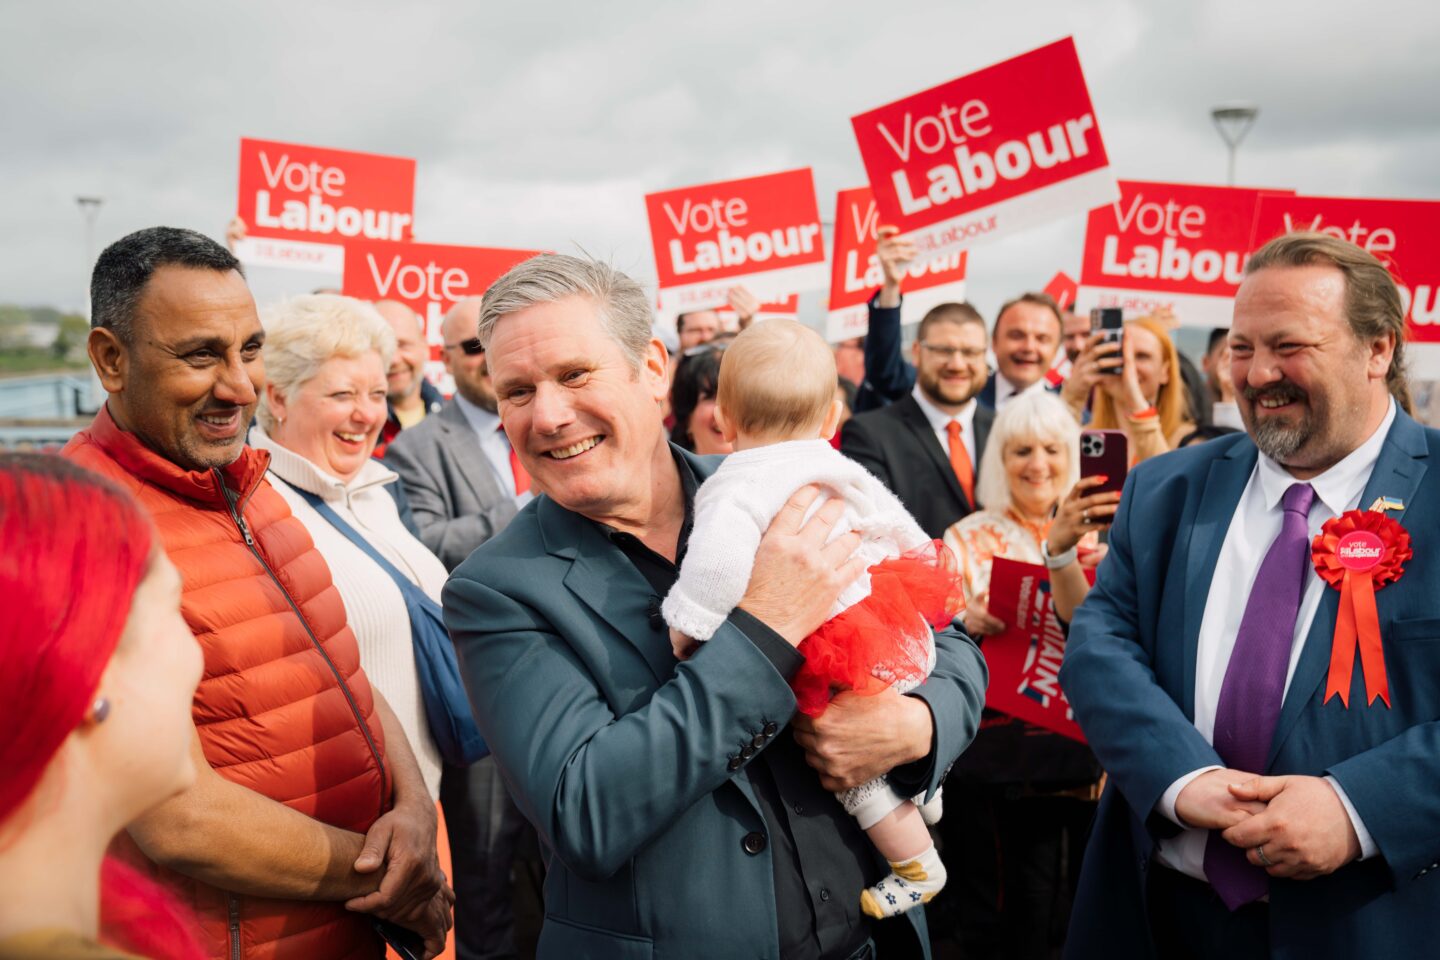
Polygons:
[[[760,538],[740,600],[742,610],[791,646],[799,646],[829,617],[841,592],[864,571],[864,560],[854,556],[858,533],[829,540],[844,499],[828,499],[806,520],[818,497],[819,488],[804,486],[780,508]],[[796,714],[791,728],[827,790],[847,790],[927,757],[935,735],[926,702],[894,689],[868,697],[841,692],[819,717]]]

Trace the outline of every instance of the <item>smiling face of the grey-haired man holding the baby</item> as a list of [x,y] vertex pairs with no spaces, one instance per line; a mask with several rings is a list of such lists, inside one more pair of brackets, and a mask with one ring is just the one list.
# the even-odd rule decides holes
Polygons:
[[485,348],[500,417],[533,484],[593,520],[649,495],[665,450],[665,348],[636,370],[593,302],[566,296],[508,314]]

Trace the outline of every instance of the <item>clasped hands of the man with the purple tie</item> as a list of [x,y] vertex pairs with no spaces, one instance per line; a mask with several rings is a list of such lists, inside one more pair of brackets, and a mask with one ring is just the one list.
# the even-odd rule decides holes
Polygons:
[[1221,830],[1270,877],[1312,879],[1361,855],[1355,826],[1323,777],[1208,770],[1179,792],[1175,815],[1187,826]]

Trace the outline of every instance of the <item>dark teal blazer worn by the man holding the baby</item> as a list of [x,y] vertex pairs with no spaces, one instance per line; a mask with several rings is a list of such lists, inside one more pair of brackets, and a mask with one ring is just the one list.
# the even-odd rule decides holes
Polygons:
[[[720,463],[684,456],[700,479]],[[595,522],[549,497],[445,586],[475,718],[547,848],[539,956],[778,959],[772,846],[744,845],[766,829],[749,760],[795,695],[729,620],[677,662],[651,597]],[[986,681],[963,633],[939,633],[936,653],[916,691],[935,715],[927,794],[973,738]],[[894,956],[929,956],[920,910],[883,934],[906,941]]]

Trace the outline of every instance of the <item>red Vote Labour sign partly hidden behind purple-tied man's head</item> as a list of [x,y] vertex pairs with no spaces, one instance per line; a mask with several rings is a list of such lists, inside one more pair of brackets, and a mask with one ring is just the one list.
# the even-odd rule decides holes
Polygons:
[[1266,196],[1251,248],[1295,230],[1349,240],[1390,266],[1405,304],[1405,338],[1440,343],[1440,200]]

